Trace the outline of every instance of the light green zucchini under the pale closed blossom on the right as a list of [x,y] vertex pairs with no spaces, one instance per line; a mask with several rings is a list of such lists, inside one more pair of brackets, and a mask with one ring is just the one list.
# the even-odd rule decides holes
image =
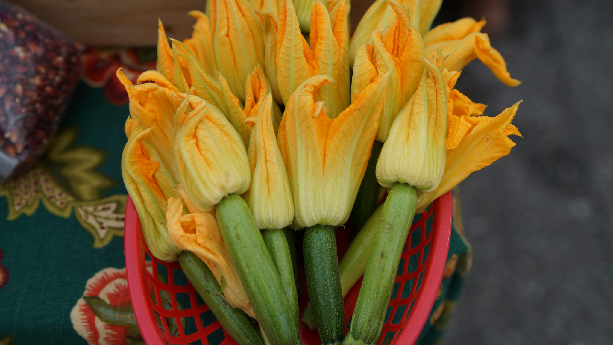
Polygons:
[[381,334],[416,204],[417,192],[408,184],[395,184],[383,204],[346,345],[375,344]]

